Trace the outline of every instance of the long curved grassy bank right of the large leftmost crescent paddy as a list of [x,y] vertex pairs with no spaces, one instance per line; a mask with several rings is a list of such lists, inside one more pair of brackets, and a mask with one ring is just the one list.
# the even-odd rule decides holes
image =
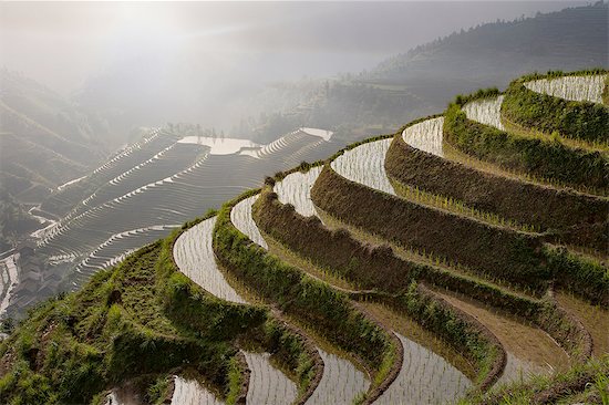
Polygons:
[[373,376],[360,401],[372,402],[395,377],[396,339],[358,310],[345,293],[268,253],[233,225],[230,210],[257,193],[246,193],[220,209],[214,233],[219,262],[269,304],[360,359]]

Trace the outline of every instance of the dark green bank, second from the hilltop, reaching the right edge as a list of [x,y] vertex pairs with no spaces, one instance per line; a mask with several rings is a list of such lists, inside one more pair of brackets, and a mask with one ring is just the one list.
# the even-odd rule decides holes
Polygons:
[[502,167],[574,186],[605,189],[607,158],[599,152],[572,149],[559,142],[517,136],[467,120],[458,105],[445,114],[446,142],[476,158]]

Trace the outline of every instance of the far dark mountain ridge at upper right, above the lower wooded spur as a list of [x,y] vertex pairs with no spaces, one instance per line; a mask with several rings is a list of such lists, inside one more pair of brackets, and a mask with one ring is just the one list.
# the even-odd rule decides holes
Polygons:
[[409,82],[448,75],[500,84],[536,70],[607,66],[608,11],[599,1],[462,30],[381,62],[369,77]]

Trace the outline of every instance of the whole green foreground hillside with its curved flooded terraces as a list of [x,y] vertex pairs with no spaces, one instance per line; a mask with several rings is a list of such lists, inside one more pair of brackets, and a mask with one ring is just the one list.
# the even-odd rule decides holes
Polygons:
[[507,97],[458,96],[443,116],[277,173],[44,303],[0,346],[0,398],[102,401],[130,380],[156,403],[605,401],[609,200],[518,166],[509,147],[568,153],[575,136],[509,129]]

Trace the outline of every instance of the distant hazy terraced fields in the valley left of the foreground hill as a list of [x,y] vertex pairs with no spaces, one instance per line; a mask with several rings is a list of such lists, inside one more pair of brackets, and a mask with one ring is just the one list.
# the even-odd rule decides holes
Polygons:
[[[90,196],[54,226],[37,233],[37,255],[76,289],[97,269],[165,236],[176,224],[219,207],[264,176],[324,157],[338,145],[321,129],[295,131],[260,146],[245,139],[180,136],[154,129],[89,178]],[[319,132],[320,134],[317,134]],[[63,194],[55,201],[60,204]],[[54,209],[53,201],[48,204]]]

